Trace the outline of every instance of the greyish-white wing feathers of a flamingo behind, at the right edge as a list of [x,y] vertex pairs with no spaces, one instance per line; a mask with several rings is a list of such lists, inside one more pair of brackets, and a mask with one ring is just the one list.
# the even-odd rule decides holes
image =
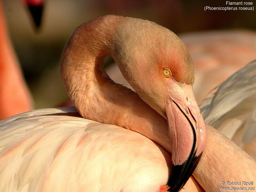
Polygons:
[[256,60],[216,87],[200,106],[206,124],[256,160]]

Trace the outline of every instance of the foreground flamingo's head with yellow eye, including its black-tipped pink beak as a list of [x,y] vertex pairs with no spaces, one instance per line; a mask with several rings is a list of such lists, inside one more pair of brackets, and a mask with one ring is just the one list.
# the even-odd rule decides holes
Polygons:
[[[196,103],[193,62],[170,30],[128,19],[116,29],[113,52],[119,68],[140,98],[164,116],[172,141],[170,191],[179,191],[193,173],[206,146],[206,128]],[[132,45],[132,46],[131,46]],[[120,66],[121,65],[121,66]]]

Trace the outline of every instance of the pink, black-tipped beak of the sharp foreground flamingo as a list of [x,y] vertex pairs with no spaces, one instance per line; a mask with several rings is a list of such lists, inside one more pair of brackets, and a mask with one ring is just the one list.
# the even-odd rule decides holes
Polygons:
[[165,113],[173,143],[168,191],[179,191],[194,172],[206,146],[206,128],[192,85],[168,82]]

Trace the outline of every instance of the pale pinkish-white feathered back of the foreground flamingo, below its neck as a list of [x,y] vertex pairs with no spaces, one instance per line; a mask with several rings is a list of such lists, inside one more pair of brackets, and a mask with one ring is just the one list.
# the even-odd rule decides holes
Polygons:
[[163,148],[137,132],[76,116],[69,107],[2,121],[0,191],[146,192],[167,182]]

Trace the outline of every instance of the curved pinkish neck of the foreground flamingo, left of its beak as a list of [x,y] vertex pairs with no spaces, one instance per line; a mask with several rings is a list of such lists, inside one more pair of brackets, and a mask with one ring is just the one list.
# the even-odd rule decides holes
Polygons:
[[78,112],[104,124],[114,124],[135,132],[172,151],[167,123],[136,92],[113,82],[103,68],[103,61],[115,58],[114,33],[119,19],[98,18],[75,30],[62,54],[60,72],[68,95]]

